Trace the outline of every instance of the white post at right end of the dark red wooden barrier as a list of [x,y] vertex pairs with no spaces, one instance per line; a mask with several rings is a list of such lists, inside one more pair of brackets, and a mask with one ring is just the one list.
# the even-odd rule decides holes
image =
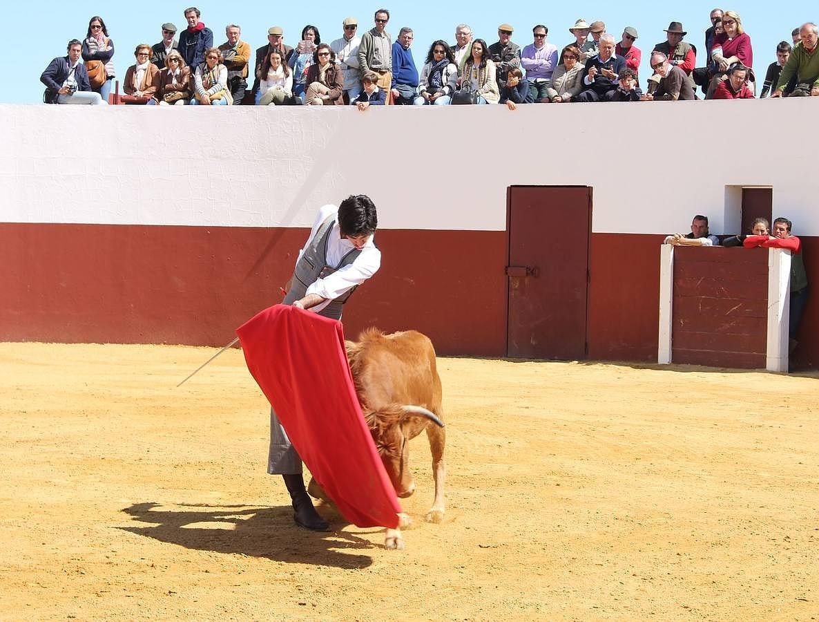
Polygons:
[[788,371],[788,323],[790,321],[790,251],[768,248],[768,371]]

